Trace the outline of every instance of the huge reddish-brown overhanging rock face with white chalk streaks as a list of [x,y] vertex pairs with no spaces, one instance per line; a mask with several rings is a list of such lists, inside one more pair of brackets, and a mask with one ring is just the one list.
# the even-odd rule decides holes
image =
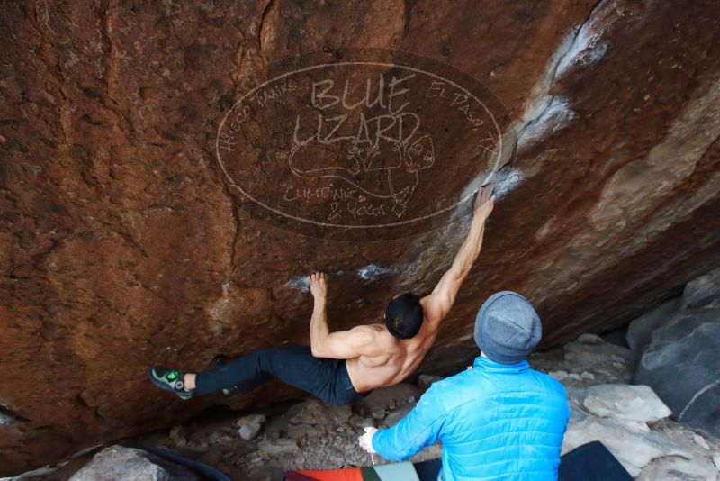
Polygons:
[[[499,201],[427,359],[441,373],[475,354],[469,322],[494,291],[531,299],[549,346],[617,327],[720,263],[718,32],[710,0],[4,5],[0,476],[217,402],[177,401],[144,369],[204,369],[217,354],[307,341],[311,269],[334,275],[329,314],[343,329],[378,321],[392,293],[428,293],[450,265],[467,202],[432,231],[382,242],[263,222],[202,133],[250,72],[311,50],[335,62],[351,47],[410,50],[504,104],[507,141],[490,172]],[[274,95],[262,102],[276,106]],[[418,113],[446,130],[401,146],[400,174],[425,183],[402,191],[415,189],[408,212],[461,201],[487,178],[460,127],[472,112],[461,102],[459,119],[448,105],[460,100],[448,102]],[[253,141],[237,166],[286,160],[261,152],[286,131],[225,125]],[[362,155],[354,161],[367,168]],[[336,202],[302,192],[313,208]],[[262,194],[282,200],[288,189],[266,183]],[[394,207],[409,204],[393,195]],[[353,214],[371,218],[371,204]],[[271,384],[222,399],[240,407],[296,394]]]

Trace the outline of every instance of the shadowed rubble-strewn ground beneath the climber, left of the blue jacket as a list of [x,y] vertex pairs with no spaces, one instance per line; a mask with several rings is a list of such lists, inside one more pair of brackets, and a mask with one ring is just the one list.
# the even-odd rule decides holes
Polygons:
[[[285,410],[229,416],[216,422],[175,426],[154,437],[157,446],[183,451],[220,467],[235,479],[283,479],[289,469],[368,466],[384,463],[361,450],[357,437],[365,426],[387,427],[399,421],[423,388],[438,377],[420,377],[420,386],[401,384],[380,389],[352,406],[331,406],[310,399]],[[440,446],[420,452],[413,461],[438,458]]]

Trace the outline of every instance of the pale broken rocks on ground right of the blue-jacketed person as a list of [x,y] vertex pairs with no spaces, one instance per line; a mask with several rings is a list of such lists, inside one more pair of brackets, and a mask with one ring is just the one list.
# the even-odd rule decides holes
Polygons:
[[637,365],[630,349],[584,334],[563,349],[534,355],[532,365],[568,390],[572,420],[563,452],[600,440],[640,480],[718,478],[720,440],[673,421],[652,389],[627,384]]

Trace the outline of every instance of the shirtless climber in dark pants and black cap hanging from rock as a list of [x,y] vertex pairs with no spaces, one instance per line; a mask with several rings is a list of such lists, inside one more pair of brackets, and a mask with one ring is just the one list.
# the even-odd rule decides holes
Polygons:
[[249,393],[277,377],[328,404],[349,404],[375,388],[400,383],[419,366],[435,342],[440,322],[455,303],[455,296],[480,253],[485,221],[494,200],[492,186],[478,190],[473,222],[453,266],[430,295],[395,296],[385,309],[384,323],[330,332],[327,277],[318,272],[309,278],[315,299],[311,347],[284,344],[257,349],[198,374],[148,368],[150,380],[187,399],[221,390]]

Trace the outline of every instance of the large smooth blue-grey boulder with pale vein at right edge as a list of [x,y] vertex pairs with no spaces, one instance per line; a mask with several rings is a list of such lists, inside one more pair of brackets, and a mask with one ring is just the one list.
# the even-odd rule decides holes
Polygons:
[[720,436],[720,308],[691,309],[653,332],[635,372],[652,386],[673,417]]

